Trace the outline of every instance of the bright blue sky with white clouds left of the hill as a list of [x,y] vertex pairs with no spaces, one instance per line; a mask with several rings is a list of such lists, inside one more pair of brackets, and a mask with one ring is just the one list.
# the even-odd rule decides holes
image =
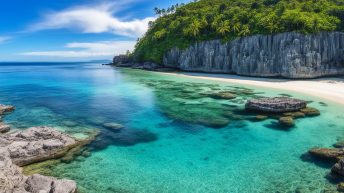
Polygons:
[[0,61],[111,59],[132,49],[154,7],[190,0],[3,0]]

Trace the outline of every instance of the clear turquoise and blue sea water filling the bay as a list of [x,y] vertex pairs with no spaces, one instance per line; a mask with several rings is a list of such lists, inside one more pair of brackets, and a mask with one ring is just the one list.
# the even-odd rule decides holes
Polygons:
[[[219,89],[239,94],[234,100],[199,95]],[[281,94],[308,100],[322,115],[285,130],[275,120],[242,114],[245,100]],[[12,63],[0,64],[0,103],[17,107],[5,121],[18,129],[101,132],[88,147],[90,157],[49,167],[76,180],[81,192],[335,190],[326,179],[331,165],[301,156],[344,138],[344,109],[314,97],[91,63]],[[213,127],[213,120],[227,126]],[[107,122],[125,129],[107,130]]]

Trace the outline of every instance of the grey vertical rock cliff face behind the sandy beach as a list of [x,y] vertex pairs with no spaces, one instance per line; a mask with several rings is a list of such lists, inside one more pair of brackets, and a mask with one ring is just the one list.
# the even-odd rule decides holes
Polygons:
[[256,35],[174,48],[164,65],[185,71],[315,78],[344,74],[344,33]]

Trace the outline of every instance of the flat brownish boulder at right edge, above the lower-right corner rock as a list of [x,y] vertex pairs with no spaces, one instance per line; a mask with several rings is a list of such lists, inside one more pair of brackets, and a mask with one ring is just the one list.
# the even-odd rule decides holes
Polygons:
[[344,149],[341,148],[313,148],[308,152],[316,158],[331,162],[338,162],[344,158]]

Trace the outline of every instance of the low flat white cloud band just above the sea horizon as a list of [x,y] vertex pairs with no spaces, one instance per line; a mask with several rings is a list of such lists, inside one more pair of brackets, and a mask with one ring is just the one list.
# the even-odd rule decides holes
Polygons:
[[66,44],[68,50],[24,52],[20,55],[60,58],[113,57],[127,50],[133,50],[135,43],[135,41],[73,42]]

